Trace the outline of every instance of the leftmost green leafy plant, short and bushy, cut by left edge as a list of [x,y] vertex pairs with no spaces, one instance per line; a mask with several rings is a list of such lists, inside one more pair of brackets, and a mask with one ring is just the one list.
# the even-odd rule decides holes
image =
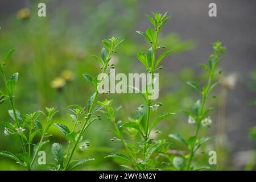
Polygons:
[[[0,126],[5,128],[4,134],[7,135],[17,135],[20,142],[20,147],[22,148],[22,153],[13,154],[10,151],[0,151],[1,156],[6,156],[7,158],[14,159],[16,163],[31,170],[35,159],[38,156],[40,149],[49,142],[46,140],[47,137],[51,137],[48,134],[49,127],[51,127],[53,121],[53,116],[57,113],[55,108],[46,108],[47,113],[43,111],[35,111],[34,113],[24,114],[24,117],[20,115],[20,112],[16,110],[14,105],[14,88],[16,82],[18,81],[19,73],[14,73],[10,78],[7,79],[5,75],[5,65],[6,61],[14,52],[15,49],[11,49],[6,53],[3,62],[0,65],[0,72],[2,80],[5,85],[5,91],[1,92],[1,104],[3,101],[10,101],[11,109],[8,111],[9,115],[13,119],[13,122],[0,122]],[[46,125],[43,126],[40,122],[40,115],[43,115],[46,120]],[[40,134],[39,142],[35,141],[35,136]]]

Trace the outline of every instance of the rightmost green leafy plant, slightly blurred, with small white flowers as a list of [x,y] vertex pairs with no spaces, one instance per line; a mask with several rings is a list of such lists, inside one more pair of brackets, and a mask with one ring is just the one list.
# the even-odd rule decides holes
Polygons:
[[[177,169],[187,170],[200,170],[208,169],[209,167],[195,168],[192,165],[192,160],[195,158],[196,151],[202,146],[202,144],[208,142],[213,137],[199,137],[200,127],[209,127],[212,124],[212,119],[209,116],[209,111],[213,107],[207,107],[206,102],[210,97],[212,90],[218,85],[218,82],[214,82],[214,77],[221,74],[221,71],[217,71],[218,64],[222,60],[222,55],[225,54],[225,47],[221,45],[221,42],[213,43],[214,53],[209,56],[208,65],[201,64],[201,66],[208,72],[208,82],[201,86],[196,82],[187,82],[189,86],[196,89],[201,94],[201,99],[197,100],[193,105],[193,111],[184,111],[188,115],[188,123],[195,125],[195,135],[185,140],[180,134],[170,134],[169,137],[175,140],[179,140],[187,147],[189,154],[183,156],[175,156],[173,164]],[[187,159],[187,163],[185,162]],[[185,165],[186,164],[186,165]],[[187,167],[185,167],[187,166]]]

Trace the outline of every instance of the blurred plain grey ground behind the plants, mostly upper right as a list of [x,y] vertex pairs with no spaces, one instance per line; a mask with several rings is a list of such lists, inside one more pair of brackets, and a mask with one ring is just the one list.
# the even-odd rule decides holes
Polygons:
[[[56,4],[57,2],[67,3],[75,12],[81,1],[56,1]],[[210,2],[217,4],[217,17],[208,16]],[[0,17],[3,18],[24,5],[24,0],[1,0]],[[227,47],[227,55],[221,67],[225,73],[238,75],[236,88],[228,94],[228,139],[234,152],[247,150],[255,144],[247,137],[249,127],[256,125],[255,107],[246,105],[251,98],[256,97],[255,90],[248,88],[249,73],[256,69],[256,1],[143,0],[139,1],[139,5],[141,20],[136,30],[144,30],[148,26],[144,14],[149,14],[151,10],[161,13],[168,11],[172,18],[164,27],[164,32],[178,32],[182,39],[193,38],[197,42],[196,49],[173,57],[168,63],[170,71],[177,72],[184,66],[201,71],[198,64],[205,63],[212,52],[209,43],[220,40]]]

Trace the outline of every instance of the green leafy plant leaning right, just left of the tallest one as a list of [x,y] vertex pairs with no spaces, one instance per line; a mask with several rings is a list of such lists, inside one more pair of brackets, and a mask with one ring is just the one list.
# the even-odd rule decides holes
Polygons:
[[[117,52],[117,46],[122,42],[123,40],[119,41],[118,38],[114,37],[110,39],[104,39],[102,43],[105,47],[101,49],[100,56],[92,56],[94,59],[100,62],[102,74],[100,74],[100,78],[98,78],[98,76],[92,77],[88,74],[83,74],[85,80],[93,85],[95,92],[87,102],[87,111],[85,111],[84,107],[79,105],[71,106],[72,114],[69,115],[69,118],[73,122],[72,130],[70,130],[66,125],[55,123],[60,132],[65,136],[65,138],[67,138],[68,149],[67,154],[64,155],[63,145],[60,143],[53,143],[52,154],[55,157],[57,164],[49,164],[49,166],[54,167],[54,169],[73,170],[76,167],[79,167],[82,164],[88,162],[89,160],[94,160],[93,158],[72,160],[72,157],[78,146],[80,146],[81,150],[85,150],[86,147],[89,146],[89,143],[86,143],[82,140],[82,135],[84,135],[85,130],[88,129],[90,124],[92,124],[97,119],[101,119],[100,115],[97,115],[96,112],[100,110],[102,106],[94,106],[99,94],[98,88],[101,88],[101,84],[106,78],[104,73],[106,72],[107,68],[110,66],[113,67],[113,65],[109,65],[109,61],[112,59],[113,54]],[[108,90],[106,90],[106,93],[108,93]]]

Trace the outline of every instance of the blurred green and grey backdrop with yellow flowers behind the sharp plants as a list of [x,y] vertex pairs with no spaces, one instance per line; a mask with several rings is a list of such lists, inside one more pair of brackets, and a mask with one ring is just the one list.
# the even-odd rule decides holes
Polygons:
[[[46,18],[37,16],[39,2],[45,2],[47,5]],[[253,39],[250,40],[245,35],[244,39],[238,39],[237,36],[243,33],[242,30],[234,28],[230,33],[226,27],[227,22],[230,23],[230,27],[236,23],[232,12],[241,5],[240,2],[232,1],[233,11],[224,13],[224,8],[228,9],[227,4],[231,1],[217,1],[220,13],[215,20],[208,16],[208,1],[195,2],[197,6],[187,1],[156,3],[136,0],[2,0],[0,57],[3,57],[10,48],[17,48],[6,66],[8,75],[19,72],[19,81],[15,89],[17,109],[24,114],[37,109],[44,110],[46,106],[57,106],[60,112],[55,118],[56,122],[71,124],[65,115],[68,113],[68,105],[86,105],[88,97],[93,92],[92,86],[84,80],[82,73],[96,76],[100,72],[100,65],[91,55],[99,54],[101,40],[112,36],[125,39],[113,59],[117,73],[144,72],[136,55],[138,51],[145,51],[149,45],[135,31],[144,31],[148,26],[149,22],[144,14],[150,14],[151,10],[161,13],[169,11],[172,18],[164,27],[160,44],[174,50],[174,55],[163,61],[164,69],[160,71],[159,101],[163,102],[163,107],[159,109],[159,113],[171,111],[177,114],[158,126],[162,134],[156,137],[167,138],[172,132],[181,133],[185,137],[193,134],[193,127],[187,124],[187,117],[180,111],[190,109],[199,96],[185,83],[204,83],[207,75],[198,64],[207,61],[212,51],[210,43],[219,39],[228,48],[228,55],[221,65],[224,76],[222,84],[216,90],[217,97],[209,102],[215,107],[212,115],[214,123],[210,130],[203,131],[206,135],[216,135],[217,139],[205,146],[205,155],[202,155],[204,158],[198,160],[203,166],[207,165],[207,151],[217,150],[221,159],[217,169],[243,169],[253,158],[255,146],[255,141],[248,137],[249,128],[256,124],[253,112],[255,106],[249,104],[255,96],[255,88],[249,86],[249,83],[253,82],[249,73],[255,69],[255,35],[247,32],[247,36],[253,36]],[[243,6],[241,11],[244,12],[247,9],[243,9]],[[248,25],[239,26],[246,29],[247,26],[250,27],[250,20],[254,20],[255,23],[255,12],[251,12],[252,10],[249,10],[246,15],[239,16],[238,21],[242,23],[247,16],[254,15],[247,19]],[[253,30],[255,29],[254,25]],[[231,37],[230,34],[235,35]],[[240,51],[239,56],[237,51]],[[238,61],[243,61],[244,64]],[[59,86],[59,89],[56,89],[56,86]],[[0,81],[0,88],[2,87],[3,82]],[[105,98],[113,98],[116,107],[122,105],[118,119],[124,122],[127,121],[127,117],[133,116],[137,107],[143,103],[141,97],[136,94],[100,96],[100,100]],[[8,102],[0,105],[1,121],[10,121],[8,109]],[[91,146],[85,152],[77,152],[75,157],[93,157],[96,160],[80,169],[122,169],[118,162],[113,162],[113,159],[104,159],[104,156],[122,147],[121,144],[110,141],[112,134],[105,131],[110,127],[110,123],[102,119],[93,123],[86,132],[84,138]],[[19,151],[18,142],[14,142],[16,138],[4,137],[3,129],[0,131],[0,149]],[[51,128],[51,133],[54,136],[51,142],[65,142],[55,126]],[[179,143],[173,143],[173,147],[182,148]],[[49,148],[50,144],[45,148],[46,152],[49,152]],[[242,152],[247,152],[246,156]],[[47,160],[53,159],[49,155]],[[0,158],[0,169],[22,168],[13,161]]]

